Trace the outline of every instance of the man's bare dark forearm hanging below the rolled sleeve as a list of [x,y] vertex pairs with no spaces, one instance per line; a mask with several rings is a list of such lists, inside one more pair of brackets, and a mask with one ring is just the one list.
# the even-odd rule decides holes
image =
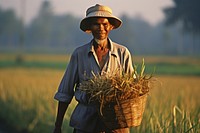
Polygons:
[[61,133],[61,127],[63,123],[63,118],[65,115],[65,112],[67,110],[69,104],[65,102],[59,101],[58,103],[58,111],[57,111],[57,117],[56,117],[56,122],[55,122],[55,128],[53,133]]

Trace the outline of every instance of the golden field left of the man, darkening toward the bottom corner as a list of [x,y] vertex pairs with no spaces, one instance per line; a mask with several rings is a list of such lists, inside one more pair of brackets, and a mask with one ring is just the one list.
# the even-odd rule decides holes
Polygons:
[[63,71],[16,68],[0,73],[0,118],[14,131],[51,132],[57,108],[53,96]]

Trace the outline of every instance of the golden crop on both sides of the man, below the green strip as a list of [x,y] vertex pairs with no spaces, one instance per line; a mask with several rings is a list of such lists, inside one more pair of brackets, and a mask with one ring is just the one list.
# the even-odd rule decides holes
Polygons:
[[[63,72],[54,69],[0,69],[0,118],[15,131],[51,132],[57,108],[53,96]],[[159,76],[158,79],[161,84],[155,84],[150,90],[142,124],[132,131],[199,132],[200,77]],[[68,120],[75,104],[73,101],[65,116],[64,133],[72,131]]]

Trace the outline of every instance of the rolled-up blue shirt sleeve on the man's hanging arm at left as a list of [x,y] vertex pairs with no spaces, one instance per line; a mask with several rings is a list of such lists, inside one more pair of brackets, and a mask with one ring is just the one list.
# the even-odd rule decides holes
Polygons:
[[77,54],[74,52],[67,66],[65,74],[61,80],[54,99],[70,103],[74,96],[74,87],[78,83],[78,63]]

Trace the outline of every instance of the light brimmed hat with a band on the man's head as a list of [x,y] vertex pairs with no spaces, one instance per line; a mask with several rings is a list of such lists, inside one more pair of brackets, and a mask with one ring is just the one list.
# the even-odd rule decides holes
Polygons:
[[80,29],[87,32],[90,29],[90,19],[96,17],[108,18],[109,22],[114,26],[113,29],[116,29],[121,26],[122,21],[112,15],[112,10],[108,6],[103,6],[96,4],[87,9],[86,17],[80,23]]

